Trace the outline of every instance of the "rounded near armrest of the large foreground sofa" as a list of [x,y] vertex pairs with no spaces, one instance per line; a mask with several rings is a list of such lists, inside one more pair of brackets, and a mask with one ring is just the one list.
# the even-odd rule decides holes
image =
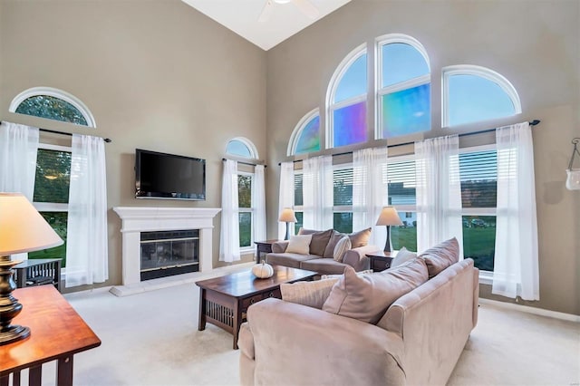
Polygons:
[[376,325],[274,298],[251,305],[247,320],[256,384],[405,383],[402,340]]

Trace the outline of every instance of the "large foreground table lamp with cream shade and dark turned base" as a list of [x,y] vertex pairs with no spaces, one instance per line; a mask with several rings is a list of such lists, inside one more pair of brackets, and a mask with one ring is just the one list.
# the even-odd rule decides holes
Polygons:
[[10,255],[60,246],[63,239],[20,193],[0,193],[0,345],[30,335],[30,329],[10,323],[22,311],[12,292],[12,267],[21,263]]

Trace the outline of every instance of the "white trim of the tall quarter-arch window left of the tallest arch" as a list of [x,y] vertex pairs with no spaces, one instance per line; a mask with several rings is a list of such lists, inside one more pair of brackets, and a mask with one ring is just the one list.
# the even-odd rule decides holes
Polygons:
[[[336,70],[334,70],[333,76],[328,82],[328,89],[326,90],[326,126],[325,126],[325,149],[333,149],[334,148],[334,130],[333,130],[333,111],[337,108],[348,106],[353,104],[355,101],[366,101],[368,97],[368,91],[362,95],[357,95],[356,97],[349,98],[345,101],[340,101],[338,103],[334,103],[334,95],[336,93],[336,89],[338,85],[343,79],[344,73],[351,67],[351,65],[359,59],[362,55],[367,54],[366,43],[362,43],[361,45],[355,47],[353,51],[348,53],[343,61],[338,64]],[[368,56],[367,56],[368,61]],[[368,63],[367,63],[368,64]],[[368,65],[367,65],[368,67]],[[368,70],[367,70],[368,71]],[[367,87],[368,89],[368,87]],[[339,107],[337,107],[339,106]]]

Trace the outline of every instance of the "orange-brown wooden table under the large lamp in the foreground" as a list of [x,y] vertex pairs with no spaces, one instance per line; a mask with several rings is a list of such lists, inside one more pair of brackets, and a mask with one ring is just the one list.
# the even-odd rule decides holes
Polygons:
[[12,321],[30,328],[22,341],[0,345],[0,386],[20,385],[20,372],[29,369],[30,386],[42,383],[42,364],[57,361],[56,385],[73,385],[73,355],[101,345],[101,340],[84,323],[53,285],[14,290],[23,305]]

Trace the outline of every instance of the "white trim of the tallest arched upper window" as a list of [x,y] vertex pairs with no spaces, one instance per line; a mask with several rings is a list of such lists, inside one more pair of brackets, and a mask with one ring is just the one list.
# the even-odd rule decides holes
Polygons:
[[[386,44],[392,43],[403,43],[409,44],[411,47],[416,49],[423,59],[425,63],[427,63],[427,68],[429,73],[425,75],[421,75],[419,77],[410,79],[405,82],[399,82],[396,84],[391,84],[386,87],[382,87],[382,46]],[[407,35],[407,34],[384,34],[379,36],[375,39],[375,66],[374,66],[374,73],[375,73],[375,84],[374,84],[374,95],[375,97],[375,125],[374,125],[374,138],[375,140],[382,140],[382,109],[380,108],[380,103],[382,101],[382,96],[392,93],[392,92],[399,92],[401,90],[410,89],[412,87],[417,87],[422,84],[430,84],[431,82],[431,65],[429,60],[429,55],[427,54],[427,50],[423,47],[417,39],[414,37]],[[431,111],[430,111],[431,113]]]

